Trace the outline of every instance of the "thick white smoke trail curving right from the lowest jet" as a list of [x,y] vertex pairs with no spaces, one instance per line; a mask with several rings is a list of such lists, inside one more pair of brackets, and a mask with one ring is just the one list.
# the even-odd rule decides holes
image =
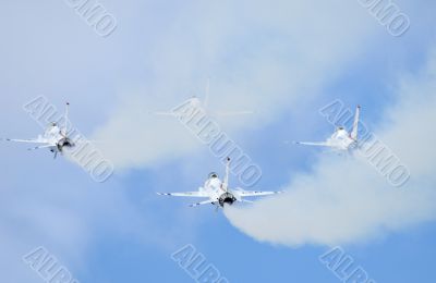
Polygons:
[[409,168],[404,186],[390,186],[359,156],[323,156],[311,174],[298,174],[284,187],[286,194],[228,209],[231,223],[258,241],[299,246],[365,242],[434,220],[435,54],[420,76],[401,79],[398,101],[376,132]]

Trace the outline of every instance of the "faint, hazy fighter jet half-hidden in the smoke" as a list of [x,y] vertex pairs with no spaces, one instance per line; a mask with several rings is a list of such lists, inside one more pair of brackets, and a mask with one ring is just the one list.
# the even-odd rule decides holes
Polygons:
[[[246,114],[253,114],[253,111],[217,111],[217,110],[210,110],[209,109],[209,81],[207,81],[206,85],[206,90],[205,90],[205,97],[204,100],[202,101],[198,97],[193,96],[185,100],[185,102],[190,103],[192,108],[195,109],[201,109],[203,110],[206,114],[208,115],[215,115],[215,116],[234,116],[234,115],[246,115]],[[155,115],[175,115],[172,111],[155,111],[153,112]]]

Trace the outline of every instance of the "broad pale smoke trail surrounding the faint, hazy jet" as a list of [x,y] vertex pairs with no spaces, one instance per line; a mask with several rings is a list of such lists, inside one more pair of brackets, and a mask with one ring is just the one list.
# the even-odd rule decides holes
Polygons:
[[171,109],[192,88],[202,96],[208,75],[214,107],[257,111],[220,121],[227,132],[262,126],[314,96],[364,50],[373,33],[365,24],[373,19],[359,3],[338,0],[220,1],[174,9],[173,20],[150,40],[145,62],[138,62],[152,74],[145,86],[121,90],[118,109],[96,131],[95,139],[105,140],[101,148],[117,168],[147,167],[198,148],[175,119],[148,112]]

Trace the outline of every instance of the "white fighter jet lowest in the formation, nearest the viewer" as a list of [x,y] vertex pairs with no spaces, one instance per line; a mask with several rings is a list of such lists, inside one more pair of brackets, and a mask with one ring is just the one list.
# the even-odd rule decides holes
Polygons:
[[174,197],[197,197],[207,198],[207,200],[195,202],[190,207],[196,207],[202,205],[213,205],[218,208],[223,208],[225,205],[233,205],[233,202],[253,202],[244,197],[257,197],[280,194],[283,192],[261,192],[261,190],[244,190],[240,187],[229,187],[229,174],[230,174],[230,158],[227,158],[226,175],[221,181],[217,173],[213,172],[209,174],[203,187],[199,187],[197,192],[185,192],[185,193],[157,193],[161,196],[174,196]]

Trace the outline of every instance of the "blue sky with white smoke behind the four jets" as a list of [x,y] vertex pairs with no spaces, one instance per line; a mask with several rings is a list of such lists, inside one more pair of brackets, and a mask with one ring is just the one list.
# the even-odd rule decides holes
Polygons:
[[[100,184],[48,151],[1,145],[2,281],[44,282],[22,257],[45,246],[80,282],[194,282],[170,257],[186,244],[230,282],[340,282],[318,260],[336,245],[376,282],[436,280],[435,3],[396,1],[411,21],[401,37],[359,1],[100,3],[118,23],[107,38],[66,1],[1,4],[0,136],[41,132],[22,110],[35,97],[68,100],[71,122],[116,165]],[[207,77],[213,108],[256,111],[217,122],[262,168],[253,188],[283,197],[225,214],[156,196],[222,174],[175,119],[149,114],[202,97]],[[362,106],[410,168],[405,187],[283,143],[327,137],[318,109],[335,99]]]

